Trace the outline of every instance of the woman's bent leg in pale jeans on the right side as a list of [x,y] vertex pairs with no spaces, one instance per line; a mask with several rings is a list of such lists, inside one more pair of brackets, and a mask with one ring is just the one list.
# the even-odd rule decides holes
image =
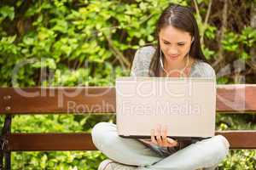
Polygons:
[[178,150],[171,156],[143,169],[175,169],[192,170],[202,167],[216,167],[228,154],[230,144],[224,136],[218,135],[190,144],[183,150]]

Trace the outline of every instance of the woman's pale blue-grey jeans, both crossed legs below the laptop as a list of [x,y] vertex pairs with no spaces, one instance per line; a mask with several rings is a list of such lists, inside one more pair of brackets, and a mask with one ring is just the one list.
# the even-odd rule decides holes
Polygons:
[[152,150],[137,139],[119,137],[116,125],[110,122],[97,123],[91,135],[96,148],[110,159],[143,170],[214,169],[227,156],[230,147],[228,140],[218,135],[164,156],[166,154],[160,155],[162,150],[158,147]]

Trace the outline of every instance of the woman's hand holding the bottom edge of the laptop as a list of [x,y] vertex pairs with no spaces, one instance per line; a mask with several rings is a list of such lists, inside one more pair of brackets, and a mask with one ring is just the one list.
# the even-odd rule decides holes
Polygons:
[[147,144],[157,144],[163,147],[174,147],[177,146],[177,141],[171,138],[167,138],[167,127],[161,128],[158,126],[151,130],[151,141],[143,140]]

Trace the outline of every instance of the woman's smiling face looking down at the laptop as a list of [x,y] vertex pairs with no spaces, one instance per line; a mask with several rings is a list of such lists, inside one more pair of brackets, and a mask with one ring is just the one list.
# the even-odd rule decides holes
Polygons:
[[192,39],[189,32],[178,30],[173,26],[166,26],[160,30],[159,38],[160,48],[165,55],[167,65],[172,68],[183,65]]

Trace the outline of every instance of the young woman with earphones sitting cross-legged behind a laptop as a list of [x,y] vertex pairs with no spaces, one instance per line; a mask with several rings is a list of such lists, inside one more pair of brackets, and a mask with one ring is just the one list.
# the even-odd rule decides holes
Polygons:
[[[157,23],[157,47],[137,50],[132,77],[215,77],[201,51],[198,26],[189,8],[173,5]],[[120,138],[116,125],[100,122],[92,129],[98,150],[110,159],[99,170],[113,169],[214,169],[228,154],[230,144],[218,135],[201,141],[176,141],[166,137],[166,128],[151,130],[151,139]]]

